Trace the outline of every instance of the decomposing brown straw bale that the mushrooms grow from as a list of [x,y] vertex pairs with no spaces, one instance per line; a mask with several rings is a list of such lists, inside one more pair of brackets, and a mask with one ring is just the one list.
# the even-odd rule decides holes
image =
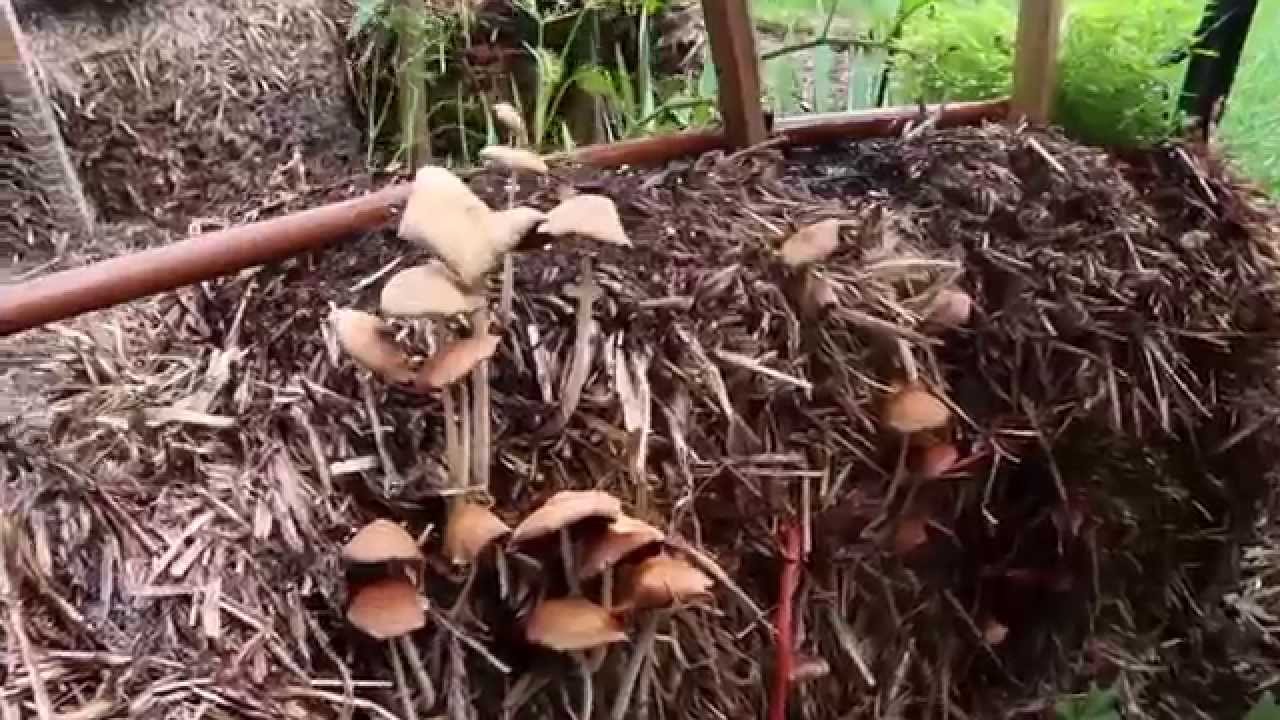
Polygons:
[[[471,184],[494,208],[608,195],[634,246],[531,238],[509,307],[490,287],[492,462],[468,493],[515,524],[557,489],[607,491],[717,579],[654,642],[627,625],[591,674],[595,716],[646,646],[632,716],[763,715],[780,602],[805,671],[792,717],[1034,716],[1116,680],[1155,716],[1242,714],[1233,662],[1256,643],[1221,600],[1280,450],[1280,287],[1276,215],[1212,158],[986,126]],[[820,273],[778,259],[829,218],[846,227]],[[419,260],[375,233],[60,333],[47,416],[0,455],[23,600],[5,702],[579,712],[580,667],[521,630],[571,583],[536,555],[503,583],[443,560],[440,398],[365,378],[328,327]],[[814,311],[805,277],[835,305]],[[590,283],[586,322],[568,286]],[[940,329],[955,288],[973,319]],[[960,462],[932,480],[883,423],[913,375],[955,418]],[[416,653],[344,620],[339,548],[375,518],[425,539]]]

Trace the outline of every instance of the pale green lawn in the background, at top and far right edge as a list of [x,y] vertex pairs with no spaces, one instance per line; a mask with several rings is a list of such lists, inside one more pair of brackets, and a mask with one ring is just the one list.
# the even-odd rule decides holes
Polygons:
[[[859,32],[882,24],[897,6],[897,0],[826,1],[840,3],[835,18],[841,33]],[[940,0],[940,4],[950,1],[955,0]],[[1015,0],[1007,1],[1010,6],[1016,6]],[[1169,1],[1190,8],[1196,13],[1204,5],[1204,0]],[[820,28],[829,8],[831,5],[823,0],[751,0],[751,13],[758,26],[773,35],[787,28],[796,35],[813,32]],[[1123,9],[1117,8],[1117,12],[1124,17]],[[1100,63],[1106,61],[1100,58]],[[1261,0],[1224,119],[1221,138],[1244,172],[1280,195],[1277,94],[1280,94],[1280,0]]]

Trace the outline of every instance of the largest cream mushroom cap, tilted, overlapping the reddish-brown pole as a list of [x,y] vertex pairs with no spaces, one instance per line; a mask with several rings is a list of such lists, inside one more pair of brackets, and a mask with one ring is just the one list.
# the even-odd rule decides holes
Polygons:
[[430,250],[465,284],[472,284],[493,268],[498,255],[486,232],[492,214],[461,178],[426,165],[413,178],[399,236]]

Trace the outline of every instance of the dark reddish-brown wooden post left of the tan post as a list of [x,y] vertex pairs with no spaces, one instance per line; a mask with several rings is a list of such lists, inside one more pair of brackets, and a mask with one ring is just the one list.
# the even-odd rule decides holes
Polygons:
[[768,136],[760,104],[760,63],[748,0],[703,0],[707,35],[719,85],[724,137],[733,147],[749,147]]

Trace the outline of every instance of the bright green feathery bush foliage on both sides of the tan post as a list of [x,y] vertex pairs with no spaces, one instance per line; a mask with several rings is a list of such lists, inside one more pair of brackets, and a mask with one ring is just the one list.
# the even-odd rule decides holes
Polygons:
[[[1185,64],[1201,6],[1183,0],[1074,0],[1064,19],[1055,122],[1098,145],[1149,145],[1178,127]],[[1012,82],[1016,15],[1006,0],[932,3],[904,27],[900,102],[980,100]]]

